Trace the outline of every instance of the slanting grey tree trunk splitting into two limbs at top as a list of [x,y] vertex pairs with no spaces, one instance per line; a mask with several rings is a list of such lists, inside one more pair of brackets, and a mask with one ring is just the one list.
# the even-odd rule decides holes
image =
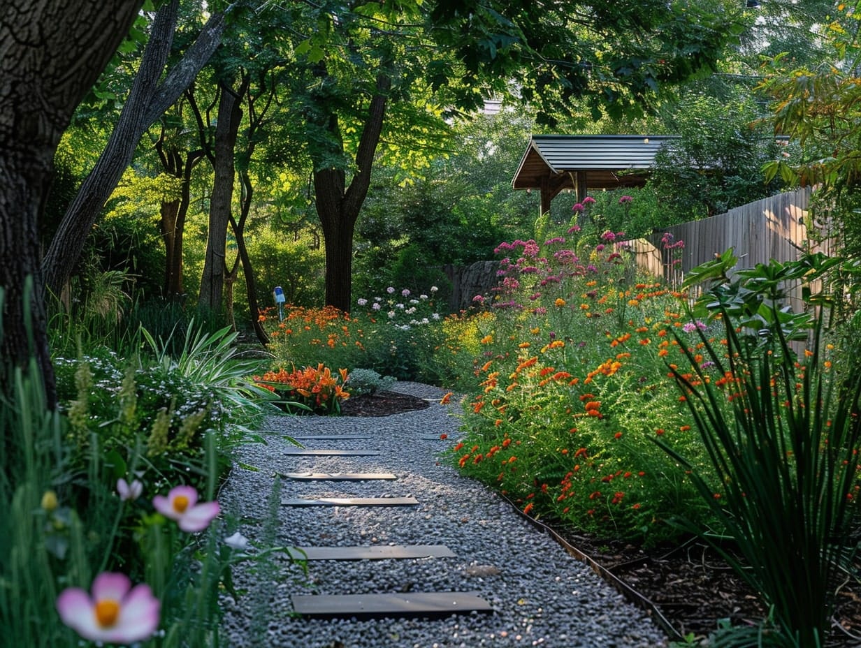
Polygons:
[[42,261],[46,287],[53,293],[59,293],[69,280],[90,229],[117,182],[120,182],[123,171],[131,163],[141,136],[189,87],[220,43],[224,30],[223,13],[209,19],[183,59],[170,70],[162,83],[158,83],[170,54],[178,7],[179,0],[170,0],[158,9],[120,120],[96,166],[66,210]]

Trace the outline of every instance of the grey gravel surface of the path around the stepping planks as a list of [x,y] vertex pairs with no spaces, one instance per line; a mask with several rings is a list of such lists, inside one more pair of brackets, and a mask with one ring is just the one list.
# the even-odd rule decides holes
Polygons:
[[[485,486],[438,463],[458,437],[458,407],[438,404],[443,391],[400,382],[399,392],[431,407],[391,417],[269,417],[266,443],[240,448],[220,492],[228,533],[251,541],[257,559],[233,569],[238,600],[224,596],[222,639],[231,646],[297,648],[453,648],[529,646],[611,648],[666,646],[640,609],[524,521]],[[440,441],[440,434],[449,441]],[[380,456],[286,456],[284,435],[363,435],[367,440],[307,441],[308,447],[380,450]],[[429,438],[435,437],[435,438]],[[255,466],[257,472],[243,466]],[[304,482],[274,472],[393,472],[393,481]],[[290,508],[284,497],[400,497],[412,507]],[[270,515],[274,511],[274,515]],[[442,544],[456,558],[311,561],[307,572],[271,546]],[[261,557],[262,556],[262,557]],[[492,614],[444,619],[305,620],[293,594],[477,591]]]

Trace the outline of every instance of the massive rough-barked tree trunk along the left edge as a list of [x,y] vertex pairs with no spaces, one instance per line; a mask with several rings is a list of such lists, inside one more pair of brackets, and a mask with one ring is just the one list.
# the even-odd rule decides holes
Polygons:
[[34,358],[48,406],[56,406],[39,220],[60,136],[128,33],[140,4],[3,0],[0,8],[0,395],[11,394],[13,367],[27,367]]

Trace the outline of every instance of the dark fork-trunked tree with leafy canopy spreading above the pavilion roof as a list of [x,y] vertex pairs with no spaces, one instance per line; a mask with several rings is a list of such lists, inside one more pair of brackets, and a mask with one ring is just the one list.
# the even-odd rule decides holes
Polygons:
[[[352,238],[375,160],[414,138],[405,106],[443,117],[514,89],[548,125],[642,112],[709,71],[742,9],[720,0],[322,2],[292,12],[296,114],[325,237],[327,304],[350,309]],[[413,115],[420,110],[414,110]],[[381,146],[382,145],[382,146]]]

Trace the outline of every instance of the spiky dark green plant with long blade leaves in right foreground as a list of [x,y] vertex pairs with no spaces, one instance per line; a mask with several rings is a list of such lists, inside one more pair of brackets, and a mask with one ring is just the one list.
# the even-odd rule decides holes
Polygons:
[[[775,268],[759,269],[746,272],[739,290],[712,291],[726,348],[700,337],[714,367],[703,369],[693,350],[693,375],[671,366],[717,477],[661,445],[691,472],[734,551],[712,544],[771,607],[777,631],[745,632],[738,645],[813,648],[828,637],[837,578],[854,548],[861,374],[838,373],[824,357],[824,311],[808,331],[808,320],[786,317],[779,299],[747,299],[761,328],[739,326],[722,297],[778,297],[777,282],[764,278]],[[796,358],[790,338],[802,333],[811,349]]]

